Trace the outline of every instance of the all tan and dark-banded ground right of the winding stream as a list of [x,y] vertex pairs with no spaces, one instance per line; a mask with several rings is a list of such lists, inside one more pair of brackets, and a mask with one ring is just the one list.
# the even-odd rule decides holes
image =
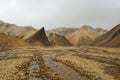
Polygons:
[[120,79],[120,55],[96,53],[95,49],[80,48],[71,51],[70,54],[59,55],[55,60],[74,68],[92,80]]

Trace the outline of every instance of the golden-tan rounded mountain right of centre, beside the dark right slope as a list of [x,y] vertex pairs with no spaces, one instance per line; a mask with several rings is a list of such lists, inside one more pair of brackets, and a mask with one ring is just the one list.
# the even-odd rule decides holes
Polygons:
[[90,45],[99,33],[92,27],[85,25],[66,35],[66,38],[75,46]]

